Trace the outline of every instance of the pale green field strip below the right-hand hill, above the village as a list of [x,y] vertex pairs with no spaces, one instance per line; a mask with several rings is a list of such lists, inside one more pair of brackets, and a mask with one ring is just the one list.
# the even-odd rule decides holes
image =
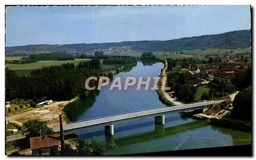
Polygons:
[[[230,51],[233,50],[233,53],[230,53]],[[201,50],[193,50],[193,51],[183,51],[184,54],[186,55],[195,55],[198,54],[200,56],[205,56],[207,54],[225,54],[227,52],[228,54],[246,54],[246,52],[250,52],[250,48],[245,48],[245,49],[217,49],[217,48],[207,48]],[[218,53],[219,52],[219,53]]]

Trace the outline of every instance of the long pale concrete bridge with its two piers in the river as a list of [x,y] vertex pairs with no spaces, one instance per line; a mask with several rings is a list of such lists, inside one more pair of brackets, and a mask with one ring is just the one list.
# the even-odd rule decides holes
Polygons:
[[[220,101],[211,101],[211,102],[197,102],[197,103],[190,103],[190,104],[180,104],[171,107],[158,107],[158,108],[151,108],[145,109],[140,111],[133,111],[127,113],[120,113],[117,115],[99,117],[94,119],[88,119],[83,121],[76,121],[69,124],[63,124],[63,132],[64,134],[68,134],[74,132],[79,128],[85,128],[95,125],[105,125],[105,134],[106,135],[114,135],[114,122],[120,122],[127,119],[137,119],[147,116],[155,116],[155,123],[163,125],[165,114],[171,112],[184,112],[184,111],[193,111],[193,110],[202,110],[202,112],[206,111],[212,104],[214,103],[221,103],[223,100]],[[59,126],[52,127],[54,132],[59,133],[60,129]]]

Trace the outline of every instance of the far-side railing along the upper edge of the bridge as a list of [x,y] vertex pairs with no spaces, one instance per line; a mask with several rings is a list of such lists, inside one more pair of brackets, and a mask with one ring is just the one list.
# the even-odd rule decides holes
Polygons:
[[[204,102],[204,101],[183,103],[183,104],[179,104],[179,105],[193,104],[193,103],[199,103],[199,102]],[[124,115],[124,114],[127,114],[127,113],[134,113],[134,112],[138,112],[138,111],[145,111],[145,110],[158,109],[158,108],[163,108],[163,107],[179,106],[179,105],[168,105],[168,106],[161,106],[161,107],[155,107],[155,108],[147,108],[147,109],[141,109],[141,110],[135,110],[135,111],[122,112],[122,113],[117,113],[117,114],[114,114],[114,115],[106,115],[106,116],[95,117],[95,118],[90,118],[90,119],[85,119],[85,120],[80,120],[80,121],[69,122],[68,124],[74,124],[74,123],[79,123],[79,122],[84,122],[84,121],[89,121],[89,120],[96,120],[96,119],[99,119],[99,118],[106,118],[106,117]]]

